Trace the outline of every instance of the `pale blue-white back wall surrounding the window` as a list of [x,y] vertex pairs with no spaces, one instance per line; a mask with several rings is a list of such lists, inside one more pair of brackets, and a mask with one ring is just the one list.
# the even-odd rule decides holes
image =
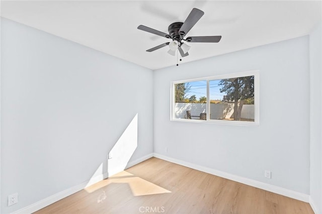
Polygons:
[[[154,71],[154,152],[309,194],[308,46],[305,36]],[[171,81],[257,69],[259,126],[170,121]]]

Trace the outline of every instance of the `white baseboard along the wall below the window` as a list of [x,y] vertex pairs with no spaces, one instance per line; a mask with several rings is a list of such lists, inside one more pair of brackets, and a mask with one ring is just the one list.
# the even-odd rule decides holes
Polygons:
[[296,191],[293,191],[293,190],[285,189],[285,188],[282,188],[282,187],[279,187],[279,186],[274,186],[274,185],[271,185],[271,184],[268,184],[268,183],[263,183],[263,182],[260,182],[260,181],[257,181],[257,180],[241,177],[241,176],[238,176],[238,175],[230,174],[230,173],[223,172],[223,171],[220,171],[220,170],[200,166],[200,165],[197,165],[197,164],[189,163],[189,162],[178,160],[178,159],[175,159],[175,158],[170,158],[170,157],[160,155],[160,154],[157,154],[157,153],[154,153],[153,156],[156,157],[156,158],[159,158],[159,159],[163,159],[163,160],[172,162],[172,163],[176,163],[176,164],[186,166],[186,167],[189,167],[189,168],[192,168],[192,169],[196,169],[196,170],[199,170],[199,171],[202,171],[202,172],[213,174],[213,175],[223,177],[223,178],[226,178],[226,179],[229,179],[229,180],[233,180],[233,181],[236,181],[236,182],[239,182],[239,183],[244,183],[244,184],[254,186],[254,187],[257,187],[257,188],[260,188],[260,189],[264,189],[264,190],[267,190],[267,191],[270,191],[270,192],[274,192],[274,193],[277,193],[277,194],[280,194],[280,195],[291,197],[291,198],[294,198],[294,199],[297,199],[297,200],[301,200],[301,201],[304,201],[304,202],[309,202],[310,201],[309,200],[309,195],[304,194],[304,193],[296,192]]

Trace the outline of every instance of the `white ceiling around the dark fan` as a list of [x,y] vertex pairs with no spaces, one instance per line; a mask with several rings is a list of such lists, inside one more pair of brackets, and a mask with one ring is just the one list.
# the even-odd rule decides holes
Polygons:
[[181,63],[307,35],[321,22],[321,1],[2,1],[1,16],[154,70],[177,57],[146,52],[169,39],[137,26],[168,33],[193,8],[205,14],[188,36],[222,39],[189,43]]

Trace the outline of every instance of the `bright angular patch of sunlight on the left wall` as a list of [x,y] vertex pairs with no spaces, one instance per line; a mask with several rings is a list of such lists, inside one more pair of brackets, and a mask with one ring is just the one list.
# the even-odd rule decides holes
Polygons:
[[108,176],[121,172],[126,168],[137,147],[137,120],[138,114],[134,116],[121,137],[115,143],[111,151],[107,154],[107,165],[106,162],[102,162],[100,164],[87,183],[86,187],[89,187],[94,183],[107,178]]

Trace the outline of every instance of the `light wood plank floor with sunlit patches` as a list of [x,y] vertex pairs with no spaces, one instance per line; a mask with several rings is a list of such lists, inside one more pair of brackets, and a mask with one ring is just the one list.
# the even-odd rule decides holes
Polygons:
[[308,203],[157,158],[36,213],[313,213]]

